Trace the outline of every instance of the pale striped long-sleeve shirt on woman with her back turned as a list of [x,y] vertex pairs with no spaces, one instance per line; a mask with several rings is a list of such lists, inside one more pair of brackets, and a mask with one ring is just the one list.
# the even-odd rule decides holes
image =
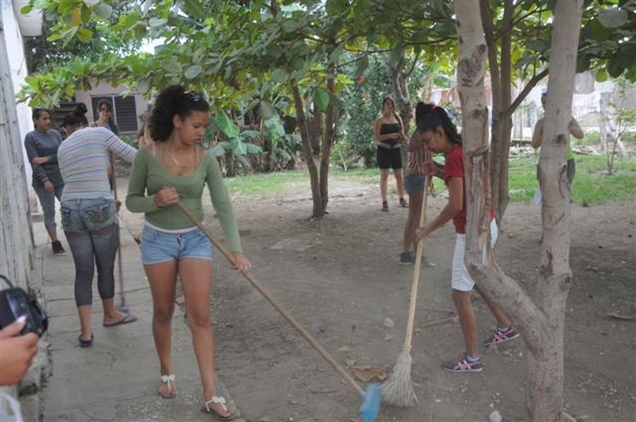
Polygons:
[[112,198],[107,168],[109,152],[132,162],[137,150],[105,128],[84,128],[73,132],[61,143],[57,159],[64,193],[69,199]]

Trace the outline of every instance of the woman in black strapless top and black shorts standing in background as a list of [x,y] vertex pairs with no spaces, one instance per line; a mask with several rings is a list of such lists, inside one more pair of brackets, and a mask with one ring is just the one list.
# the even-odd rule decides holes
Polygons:
[[380,169],[380,195],[382,195],[382,211],[389,211],[387,202],[387,185],[389,169],[393,169],[400,205],[408,207],[404,200],[404,176],[402,174],[402,155],[400,145],[406,140],[404,128],[399,116],[395,113],[395,103],[390,97],[382,100],[382,116],[375,121],[373,137],[377,143],[377,166]]

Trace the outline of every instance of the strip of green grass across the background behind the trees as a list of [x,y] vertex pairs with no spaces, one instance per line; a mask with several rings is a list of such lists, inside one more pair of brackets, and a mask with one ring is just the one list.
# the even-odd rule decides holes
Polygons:
[[[537,186],[536,157],[513,158],[510,160],[510,202],[529,203]],[[636,157],[616,157],[614,169],[617,173],[611,176],[603,174],[606,169],[604,155],[577,155],[577,174],[572,185],[572,201],[580,205],[603,204],[611,201],[633,200],[636,195]],[[331,179],[350,179],[360,183],[375,184],[379,181],[378,169],[351,169],[343,171],[332,168]],[[283,171],[268,174],[250,174],[225,179],[230,195],[263,196],[281,193],[292,186],[306,186],[310,189],[310,178],[307,171]],[[394,186],[393,178],[389,178],[389,187]],[[446,186],[435,178],[435,189],[438,193],[445,191]]]

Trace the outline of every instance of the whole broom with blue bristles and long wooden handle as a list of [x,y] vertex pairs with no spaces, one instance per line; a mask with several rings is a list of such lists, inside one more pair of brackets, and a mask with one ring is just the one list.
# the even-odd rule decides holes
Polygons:
[[[225,249],[225,247],[222,244],[220,244],[218,241],[216,241],[216,239],[212,237],[212,235],[210,234],[210,231],[208,231],[208,229],[203,227],[201,222],[197,221],[194,215],[192,215],[189,212],[189,210],[186,207],[184,207],[181,201],[177,203],[177,207],[179,207],[179,209],[182,210],[182,212],[194,224],[196,224],[196,227],[199,227],[199,229],[201,229],[201,231],[203,231],[204,234],[208,236],[208,239],[210,239],[212,244],[216,246],[216,248],[220,251],[220,253],[222,253],[225,256],[225,258],[228,258],[230,263],[232,263],[233,262],[232,255],[230,255],[228,250]],[[329,363],[329,365],[333,366],[334,369],[337,370],[338,373],[342,376],[342,378],[344,378],[351,385],[351,387],[353,387],[355,391],[357,391],[358,394],[360,394],[360,398],[362,399],[362,402],[363,402],[362,406],[360,406],[360,409],[358,409],[358,414],[360,415],[360,422],[375,422],[377,418],[377,414],[379,412],[379,406],[380,406],[379,385],[371,384],[367,387],[366,391],[363,390],[362,387],[358,385],[358,382],[356,382],[353,379],[353,377],[349,375],[349,373],[346,370],[344,370],[344,368],[342,368],[342,366],[338,364],[338,362],[336,362],[336,359],[334,359],[329,354],[329,352],[327,352],[324,349],[324,347],[318,342],[318,340],[315,339],[312,336],[312,334],[310,334],[307,330],[305,330],[305,328],[302,327],[302,325],[300,325],[300,323],[298,323],[298,321],[295,320],[295,318],[288,311],[286,311],[285,308],[283,308],[283,306],[281,306],[280,303],[278,303],[278,301],[269,293],[267,289],[265,289],[263,284],[261,284],[261,282],[259,282],[259,280],[257,280],[256,277],[245,272],[241,272],[241,274],[243,275],[243,277],[247,279],[248,282],[250,282],[250,284],[252,284],[252,286],[254,286],[265,297],[265,299],[267,299],[267,301],[269,301],[269,303],[272,304],[274,308],[276,308],[276,311],[281,313],[281,315],[283,315],[283,317],[285,317],[285,319],[288,320],[290,324],[293,325],[293,327],[296,330],[298,330],[298,332],[300,332],[302,337],[305,337],[307,342],[309,342],[312,345],[312,347],[316,349],[316,351],[318,351],[319,354],[321,354],[321,356]]]

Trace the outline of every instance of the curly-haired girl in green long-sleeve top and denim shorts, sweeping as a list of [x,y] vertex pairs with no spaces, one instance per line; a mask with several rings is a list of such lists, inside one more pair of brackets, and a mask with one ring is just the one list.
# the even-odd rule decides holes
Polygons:
[[209,315],[211,244],[175,206],[180,200],[197,219],[203,220],[201,196],[207,185],[235,269],[251,269],[242,253],[237,222],[216,157],[200,145],[209,121],[210,106],[199,92],[185,92],[179,85],[160,92],[149,121],[154,142],[139,150],[135,158],[126,207],[131,212],[144,212],[146,217],[141,258],[153,296],[159,394],[166,399],[176,394],[171,345],[178,273],[203,384],[201,410],[226,421],[234,418],[236,411],[215,390],[214,337]]

